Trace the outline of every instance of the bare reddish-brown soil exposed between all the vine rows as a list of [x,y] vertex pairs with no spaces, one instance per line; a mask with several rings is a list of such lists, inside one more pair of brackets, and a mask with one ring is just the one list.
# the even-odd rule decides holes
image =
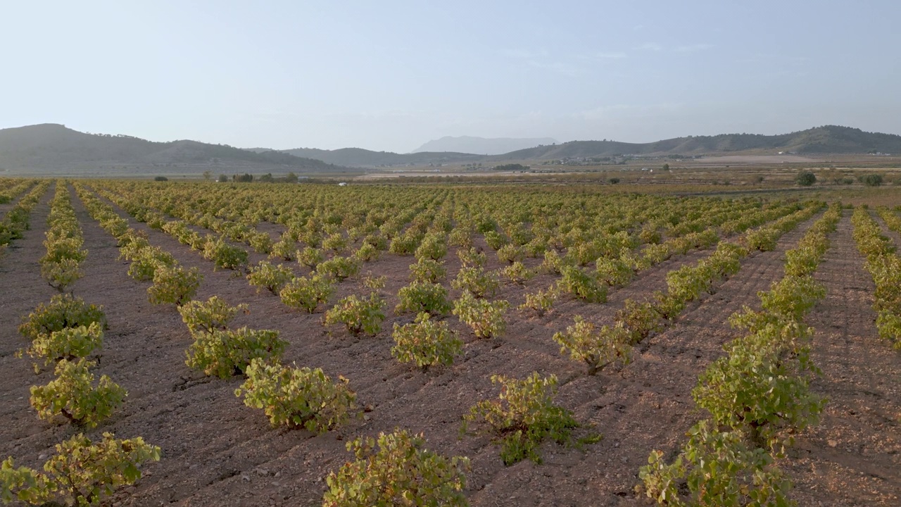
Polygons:
[[[15,456],[29,466],[39,465],[41,455],[77,432],[68,425],[36,418],[28,403],[28,388],[47,383],[50,373],[35,376],[30,361],[13,356],[26,345],[15,330],[20,317],[50,300],[55,292],[41,280],[37,264],[43,253],[50,195],[35,207],[32,230],[0,264],[0,287],[4,288],[0,292],[0,401],[7,421],[0,426],[0,457]],[[445,455],[470,457],[467,493],[472,505],[643,504],[633,493],[638,468],[651,449],[676,449],[685,440],[685,430],[702,417],[694,410],[690,392],[698,373],[722,355],[722,345],[735,336],[726,318],[744,304],[757,306],[756,291],[767,289],[782,276],[782,253],[811,223],[785,235],[776,252],[746,259],[742,271],[725,281],[716,294],[688,308],[665,332],[646,340],[632,364],[588,377],[583,365],[559,354],[552,334],[571,324],[577,314],[598,323],[609,322],[624,299],[664,288],[666,272],[695,262],[705,253],[690,253],[642,273],[629,287],[613,292],[605,305],[563,300],[544,318],[511,309],[510,325],[501,338],[478,340],[456,318],[448,318],[467,342],[465,355],[452,367],[420,373],[398,364],[390,354],[392,324],[409,322],[412,315],[389,313],[376,337],[354,338],[337,327],[330,336],[320,324],[322,309],[313,315],[288,309],[278,297],[268,292],[257,294],[233,272],[214,272],[212,263],[186,246],[132,220],[132,226],[147,231],[152,244],[204,273],[198,299],[218,295],[232,304],[250,304],[250,315],[237,318],[236,326],[280,330],[290,342],[284,357],[287,363],[321,367],[332,377],[348,377],[360,404],[372,406],[367,419],[314,436],[302,430],[270,428],[261,411],[245,407],[234,396],[241,379],[208,379],[189,370],[185,350],[190,338],[176,309],[147,302],[150,284],[127,276],[128,265],[117,260],[114,238],[87,216],[77,199],[73,204],[89,250],[86,276],[77,281],[74,291],[104,305],[109,318],[97,371],[129,391],[123,408],[89,433],[142,436],[162,447],[162,459],[144,466],[141,482],[114,497],[114,502],[141,506],[318,505],[325,487],[323,478],[351,457],[344,448],[347,440],[396,427],[424,432],[430,447]],[[854,249],[847,219],[842,227],[818,274],[828,283],[829,299],[811,318],[819,331],[817,359],[824,368],[824,378],[817,381],[816,388],[827,393],[833,403],[823,424],[798,438],[793,451],[797,456],[785,466],[798,483],[793,495],[803,505],[832,504],[836,497],[832,484],[839,479],[844,481],[844,504],[893,505],[897,502],[893,495],[897,493],[895,451],[901,413],[895,388],[899,361],[896,353],[874,337],[867,300],[872,287],[867,273],[860,269],[862,259]],[[251,254],[252,262],[262,258]],[[496,259],[491,261],[489,267],[499,266]],[[364,272],[387,275],[384,292],[389,309],[397,302],[397,290],[408,281],[412,262],[412,257],[386,255],[364,267]],[[459,269],[453,252],[447,262],[453,276]],[[551,277],[542,275],[528,287],[534,290],[550,282]],[[356,281],[344,281],[336,297],[363,291]],[[523,301],[523,289],[508,284],[497,297],[515,306]],[[839,326],[837,334],[834,326]],[[459,437],[461,415],[476,401],[496,397],[491,374],[523,377],[536,370],[560,377],[558,401],[574,410],[580,421],[595,425],[604,435],[601,442],[584,452],[546,444],[542,447],[543,465],[522,462],[505,467],[498,447],[489,438]],[[870,392],[878,392],[878,398]],[[848,410],[855,413],[849,415]],[[884,417],[876,418],[877,412]],[[836,446],[830,447],[828,439],[835,440]],[[866,452],[848,453],[846,447]],[[881,471],[884,479],[852,478],[852,473],[860,471]]]

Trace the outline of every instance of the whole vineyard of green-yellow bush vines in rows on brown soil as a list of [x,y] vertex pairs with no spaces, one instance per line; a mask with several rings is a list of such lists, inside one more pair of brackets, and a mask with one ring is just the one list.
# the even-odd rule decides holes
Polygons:
[[901,207],[0,178],[0,502],[901,504]]

